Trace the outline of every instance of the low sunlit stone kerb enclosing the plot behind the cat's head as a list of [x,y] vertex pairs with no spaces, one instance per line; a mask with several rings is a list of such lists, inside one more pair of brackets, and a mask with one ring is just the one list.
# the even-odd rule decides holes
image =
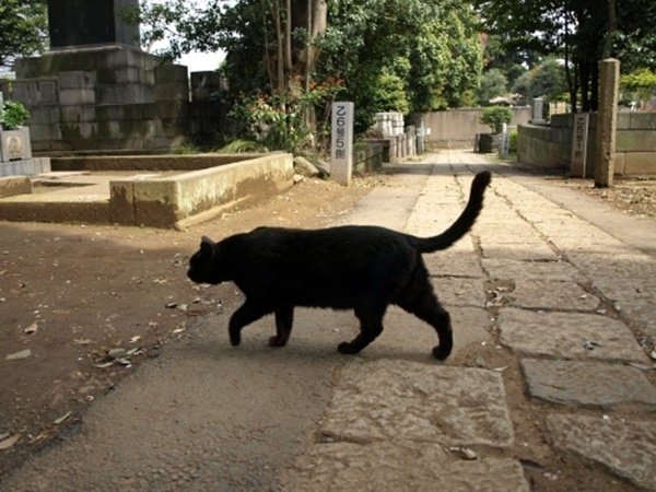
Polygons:
[[[211,219],[225,210],[249,204],[293,186],[293,155],[270,153],[245,156],[226,163],[230,155],[108,157],[114,171],[180,171],[165,177],[136,176],[109,179],[93,191],[32,195],[26,177],[0,178],[0,220],[35,222],[115,223],[150,227],[181,227]],[[246,160],[244,160],[246,159]],[[157,163],[165,160],[165,168]],[[102,157],[65,159],[59,169],[107,171]],[[220,164],[218,164],[220,162]],[[85,166],[83,166],[85,164]],[[197,166],[197,167],[192,167]],[[194,169],[194,171],[188,171]],[[184,172],[187,171],[187,172]],[[19,181],[20,179],[20,181]],[[105,178],[107,179],[107,177]],[[97,181],[96,181],[97,183]],[[106,180],[105,180],[106,183]],[[21,188],[16,188],[21,186]]]

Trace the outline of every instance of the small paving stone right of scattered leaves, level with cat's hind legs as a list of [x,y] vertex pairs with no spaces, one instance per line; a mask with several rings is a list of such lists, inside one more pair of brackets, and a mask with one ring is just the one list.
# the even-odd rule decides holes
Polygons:
[[574,282],[517,280],[509,293],[514,307],[559,311],[595,311],[599,300]]

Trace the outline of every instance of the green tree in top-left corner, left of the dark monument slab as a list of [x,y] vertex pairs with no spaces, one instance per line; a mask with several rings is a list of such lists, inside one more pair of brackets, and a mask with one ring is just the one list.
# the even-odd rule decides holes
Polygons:
[[47,10],[42,0],[0,1],[0,67],[47,46]]

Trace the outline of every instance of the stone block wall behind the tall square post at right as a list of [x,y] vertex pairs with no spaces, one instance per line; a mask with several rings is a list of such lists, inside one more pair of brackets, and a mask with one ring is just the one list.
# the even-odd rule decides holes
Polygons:
[[[550,125],[519,125],[517,159],[540,167],[570,169],[574,115],[553,115]],[[597,115],[590,114],[586,176],[594,175]],[[618,114],[614,174],[656,175],[656,113]]]

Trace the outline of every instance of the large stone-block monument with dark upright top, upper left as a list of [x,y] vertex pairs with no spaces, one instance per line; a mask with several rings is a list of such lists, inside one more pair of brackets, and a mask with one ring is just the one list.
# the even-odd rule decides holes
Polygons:
[[187,68],[142,51],[127,8],[138,0],[48,0],[50,51],[17,59],[16,80],[2,83],[30,109],[33,152],[162,151],[187,140]]

